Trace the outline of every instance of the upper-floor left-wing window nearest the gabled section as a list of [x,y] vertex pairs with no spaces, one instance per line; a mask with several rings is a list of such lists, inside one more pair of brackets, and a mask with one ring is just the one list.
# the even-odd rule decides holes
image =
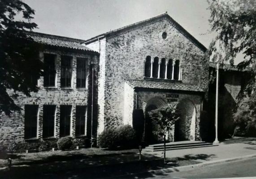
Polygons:
[[87,59],[77,58],[77,88],[85,88],[86,86],[86,67]]

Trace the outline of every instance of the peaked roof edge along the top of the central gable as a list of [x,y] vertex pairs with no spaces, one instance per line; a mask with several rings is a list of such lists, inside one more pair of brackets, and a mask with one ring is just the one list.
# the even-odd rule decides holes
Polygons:
[[108,37],[108,36],[111,36],[113,34],[117,34],[121,31],[125,31],[125,30],[129,30],[129,29],[132,29],[136,26],[142,26],[144,24],[147,24],[149,22],[152,22],[152,21],[157,21],[159,19],[162,19],[162,18],[167,18],[169,19],[169,21],[171,21],[174,25],[174,27],[179,30],[186,38],[188,38],[192,43],[194,43],[197,47],[199,47],[202,51],[206,51],[207,48],[204,47],[204,45],[202,43],[200,43],[195,37],[193,37],[187,30],[185,30],[180,24],[178,24],[177,21],[175,21],[172,17],[170,17],[167,12],[164,13],[164,14],[161,14],[159,16],[156,16],[156,17],[152,17],[150,19],[147,19],[147,20],[144,20],[144,21],[139,21],[139,22],[136,22],[134,24],[131,24],[131,25],[128,25],[128,26],[124,26],[124,27],[121,27],[119,29],[116,29],[116,30],[111,30],[109,32],[106,32],[104,34],[100,34],[100,35],[97,35],[93,38],[89,38],[87,40],[85,40],[83,43],[85,44],[89,44],[89,43],[92,43],[92,42],[95,42],[99,39],[102,39],[102,38],[105,38],[105,37]]

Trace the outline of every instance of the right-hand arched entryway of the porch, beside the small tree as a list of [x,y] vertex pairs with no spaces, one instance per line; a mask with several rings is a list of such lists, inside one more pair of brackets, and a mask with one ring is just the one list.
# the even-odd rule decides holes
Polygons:
[[177,106],[180,119],[174,125],[174,141],[195,140],[196,110],[189,99],[183,99]]

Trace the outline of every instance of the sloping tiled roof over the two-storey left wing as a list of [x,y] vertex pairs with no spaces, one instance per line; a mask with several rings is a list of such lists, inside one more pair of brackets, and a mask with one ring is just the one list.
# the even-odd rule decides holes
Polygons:
[[51,34],[43,34],[39,32],[26,32],[27,36],[32,38],[35,42],[41,43],[44,45],[52,46],[52,47],[64,47],[69,48],[73,50],[81,50],[86,51],[90,53],[98,53],[96,51],[91,50],[88,47],[85,47],[82,42],[84,40],[82,39],[76,39],[76,38],[68,38],[58,35],[51,35]]

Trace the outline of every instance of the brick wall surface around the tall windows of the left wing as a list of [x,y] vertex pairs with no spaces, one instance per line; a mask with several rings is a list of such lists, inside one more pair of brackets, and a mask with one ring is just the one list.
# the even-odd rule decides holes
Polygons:
[[[40,144],[45,142],[50,143],[51,147],[56,147],[56,141],[59,138],[59,124],[60,124],[60,105],[72,105],[72,117],[71,117],[71,137],[75,136],[75,110],[77,105],[87,106],[87,111],[91,109],[88,107],[89,93],[88,90],[91,88],[90,74],[87,74],[87,89],[76,89],[76,57],[87,58],[87,67],[91,60],[97,62],[97,56],[87,55],[85,53],[73,53],[67,51],[56,51],[56,50],[45,50],[40,53],[40,58],[43,60],[43,53],[56,54],[56,86],[55,87],[43,87],[43,77],[38,80],[39,91],[37,93],[31,93],[31,97],[27,97],[20,94],[15,100],[15,103],[22,108],[21,113],[13,112],[10,116],[6,116],[3,113],[0,116],[0,145],[7,146],[10,144],[19,145],[19,150],[24,149],[35,149],[39,148]],[[71,88],[61,88],[61,66],[60,60],[61,55],[69,55],[73,57],[72,60],[72,82]],[[95,69],[95,73],[98,70]],[[97,74],[96,74],[97,76]],[[97,81],[97,78],[95,78]],[[96,84],[97,85],[97,84]],[[9,90],[9,94],[13,91]],[[97,94],[96,94],[97,95]],[[38,118],[38,132],[37,139],[35,140],[25,140],[24,139],[24,106],[26,104],[39,105],[39,118]],[[55,137],[51,139],[43,139],[43,105],[56,105],[56,120],[55,120]],[[91,117],[86,116],[87,123],[90,123]],[[90,136],[91,129],[86,130],[86,135]]]

